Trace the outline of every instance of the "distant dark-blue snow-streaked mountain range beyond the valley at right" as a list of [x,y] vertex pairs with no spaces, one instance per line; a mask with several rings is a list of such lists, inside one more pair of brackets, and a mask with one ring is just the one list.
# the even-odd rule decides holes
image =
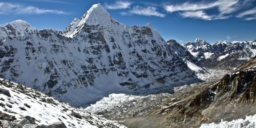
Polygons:
[[209,44],[196,39],[183,45],[204,67],[238,67],[256,55],[255,41],[219,41]]

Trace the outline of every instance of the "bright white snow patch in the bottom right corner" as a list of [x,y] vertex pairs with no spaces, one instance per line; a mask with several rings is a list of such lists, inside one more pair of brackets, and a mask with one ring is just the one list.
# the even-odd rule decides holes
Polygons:
[[202,124],[200,128],[255,128],[256,127],[256,114],[253,116],[246,116],[245,120],[238,119],[230,122],[223,121],[219,124]]

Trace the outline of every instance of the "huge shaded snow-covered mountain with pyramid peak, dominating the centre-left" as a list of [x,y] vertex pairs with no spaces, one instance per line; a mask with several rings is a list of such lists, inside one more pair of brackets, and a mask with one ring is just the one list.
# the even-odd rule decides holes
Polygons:
[[39,31],[22,20],[0,26],[0,77],[74,106],[192,82],[204,70],[193,61],[151,24],[120,24],[100,4],[64,31]]

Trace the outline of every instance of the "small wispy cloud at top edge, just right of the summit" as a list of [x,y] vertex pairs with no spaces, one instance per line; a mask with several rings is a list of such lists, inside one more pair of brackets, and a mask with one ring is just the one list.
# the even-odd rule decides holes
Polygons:
[[105,3],[105,7],[107,9],[113,9],[113,10],[130,8],[131,5],[132,5],[132,2],[129,2],[129,1],[116,1],[114,4]]

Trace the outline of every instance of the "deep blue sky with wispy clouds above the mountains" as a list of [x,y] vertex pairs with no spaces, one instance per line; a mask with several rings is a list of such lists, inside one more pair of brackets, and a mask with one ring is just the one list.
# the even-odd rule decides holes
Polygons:
[[0,24],[26,20],[37,29],[64,30],[100,3],[128,26],[151,23],[164,40],[256,40],[256,0],[0,0]]

